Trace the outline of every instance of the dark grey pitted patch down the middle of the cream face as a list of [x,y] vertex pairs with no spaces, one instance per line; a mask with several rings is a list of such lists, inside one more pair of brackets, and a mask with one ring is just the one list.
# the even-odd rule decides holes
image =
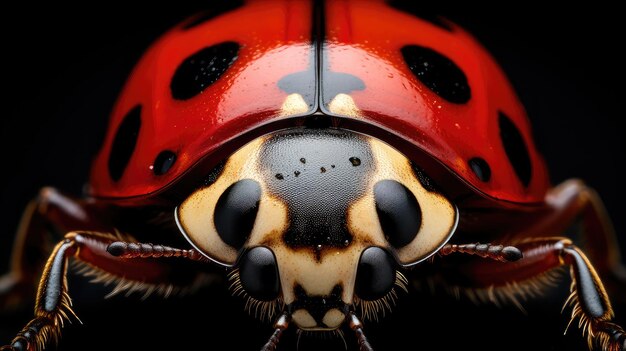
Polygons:
[[[317,165],[346,164],[350,157],[361,160],[360,167],[337,166],[322,173]],[[360,135],[334,129],[297,129],[278,132],[263,144],[259,167],[266,177],[291,174],[307,165],[297,177],[267,184],[268,191],[287,206],[289,226],[283,240],[291,248],[316,253],[328,247],[345,248],[353,237],[346,224],[348,207],[365,192],[367,176],[373,171],[369,144]],[[318,171],[319,170],[319,171]],[[330,174],[329,174],[330,173]],[[316,257],[317,256],[316,253]]]

